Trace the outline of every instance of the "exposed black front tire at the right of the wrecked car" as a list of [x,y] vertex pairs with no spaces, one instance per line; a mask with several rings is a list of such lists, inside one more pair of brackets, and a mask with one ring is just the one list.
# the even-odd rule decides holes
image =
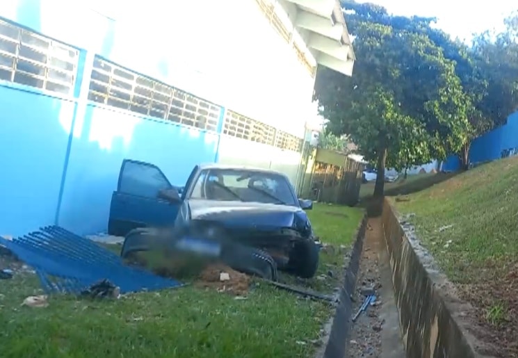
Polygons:
[[289,255],[290,271],[302,278],[310,279],[318,269],[320,250],[313,240],[297,241]]

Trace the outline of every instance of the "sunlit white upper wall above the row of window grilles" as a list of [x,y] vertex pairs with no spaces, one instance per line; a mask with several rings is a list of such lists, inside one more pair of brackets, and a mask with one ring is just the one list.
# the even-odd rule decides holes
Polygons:
[[10,0],[0,16],[296,136],[316,114],[314,79],[255,0]]

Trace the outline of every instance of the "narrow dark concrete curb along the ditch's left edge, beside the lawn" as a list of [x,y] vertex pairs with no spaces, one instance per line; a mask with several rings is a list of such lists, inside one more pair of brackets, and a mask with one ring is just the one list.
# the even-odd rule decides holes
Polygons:
[[329,339],[321,356],[323,358],[344,358],[348,351],[348,336],[351,327],[350,318],[353,314],[353,302],[350,300],[350,297],[355,291],[366,225],[367,215],[364,215],[356,231],[356,241],[350,254],[348,267],[346,268],[345,280],[340,290],[340,302],[334,313]]

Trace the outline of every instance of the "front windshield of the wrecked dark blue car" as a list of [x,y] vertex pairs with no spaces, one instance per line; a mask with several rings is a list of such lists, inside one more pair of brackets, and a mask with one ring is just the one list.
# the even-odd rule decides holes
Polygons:
[[202,170],[189,197],[218,201],[298,205],[293,188],[286,177],[259,170],[219,168]]

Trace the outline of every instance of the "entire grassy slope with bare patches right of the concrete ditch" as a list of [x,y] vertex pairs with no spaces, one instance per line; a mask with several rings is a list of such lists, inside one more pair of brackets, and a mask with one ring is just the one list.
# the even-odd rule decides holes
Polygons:
[[392,202],[400,213],[416,214],[410,221],[419,238],[478,307],[480,321],[498,332],[502,355],[516,357],[518,158],[481,165],[406,198]]

